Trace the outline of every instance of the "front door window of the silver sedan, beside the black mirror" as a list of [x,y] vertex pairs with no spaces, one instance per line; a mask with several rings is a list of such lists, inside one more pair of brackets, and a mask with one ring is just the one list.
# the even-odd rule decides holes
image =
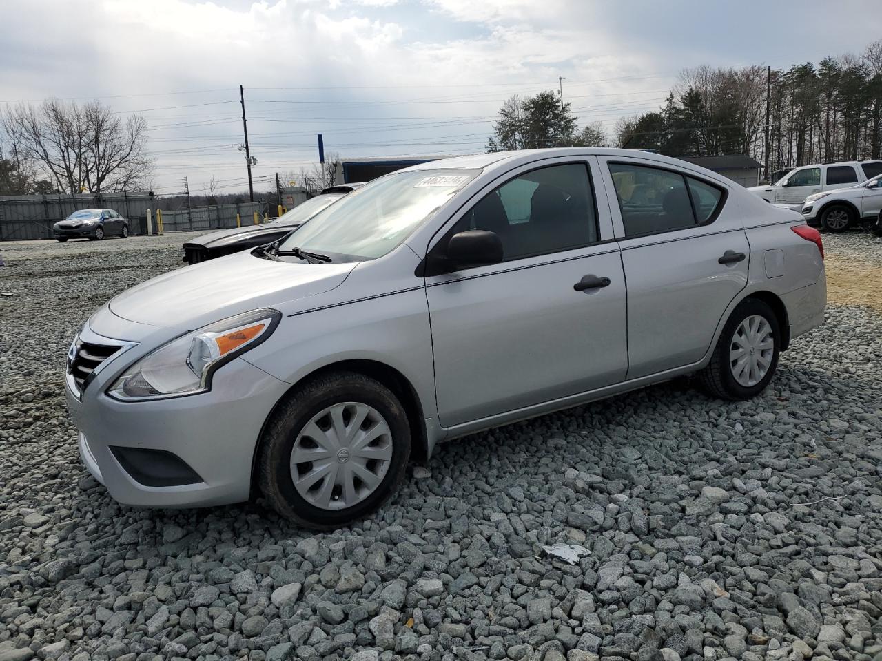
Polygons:
[[494,232],[503,261],[582,248],[597,241],[597,212],[587,165],[542,167],[505,182],[453,228]]

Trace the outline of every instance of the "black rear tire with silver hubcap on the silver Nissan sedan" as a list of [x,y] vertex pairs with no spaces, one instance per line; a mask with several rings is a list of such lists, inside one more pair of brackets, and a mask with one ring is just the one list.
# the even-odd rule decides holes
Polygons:
[[[759,331],[759,341],[751,343],[749,338],[745,338],[743,331],[743,323],[751,324],[748,320],[761,319],[765,322],[765,326],[756,324],[752,328]],[[767,344],[767,340],[771,338],[772,346],[768,349],[759,349],[759,347]],[[751,356],[757,356],[755,365],[762,366],[761,360],[765,359],[766,372],[759,375],[759,370],[751,379],[750,365],[747,365],[746,374],[739,374],[736,367],[733,367],[733,358],[736,354],[736,347],[744,343],[750,346],[753,344],[753,351],[746,353],[747,362],[750,363]],[[759,349],[759,351],[758,351]],[[771,353],[764,353],[770,351]],[[699,379],[704,389],[713,397],[729,400],[750,399],[759,395],[765,390],[766,385],[772,380],[775,370],[778,368],[778,357],[781,353],[781,327],[778,318],[774,314],[774,310],[765,302],[759,299],[745,299],[740,302],[729,316],[729,321],[723,327],[720,339],[714,347],[714,354],[706,368],[699,372]]]

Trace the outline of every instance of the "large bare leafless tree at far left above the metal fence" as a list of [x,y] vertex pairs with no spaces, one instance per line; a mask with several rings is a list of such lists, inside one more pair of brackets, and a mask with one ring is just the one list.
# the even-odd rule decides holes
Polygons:
[[123,118],[100,101],[86,104],[50,99],[22,103],[3,115],[23,159],[68,192],[133,189],[149,181],[153,160],[146,152],[146,121]]

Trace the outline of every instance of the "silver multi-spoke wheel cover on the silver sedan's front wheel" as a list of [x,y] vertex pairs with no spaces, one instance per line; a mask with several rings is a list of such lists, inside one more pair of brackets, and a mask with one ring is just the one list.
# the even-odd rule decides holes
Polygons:
[[377,409],[342,402],[318,412],[297,434],[291,479],[321,509],[345,509],[373,494],[392,463],[392,430]]

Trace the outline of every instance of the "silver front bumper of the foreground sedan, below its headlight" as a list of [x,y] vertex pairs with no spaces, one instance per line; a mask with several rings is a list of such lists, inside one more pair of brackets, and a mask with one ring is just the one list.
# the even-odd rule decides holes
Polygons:
[[[84,329],[84,334],[92,331]],[[112,341],[112,340],[108,340]],[[251,465],[261,428],[289,388],[242,359],[218,370],[212,390],[199,395],[145,402],[119,402],[105,394],[134,356],[129,350],[108,359],[78,394],[67,382],[68,410],[79,431],[79,454],[93,477],[116,501],[146,507],[223,505],[248,500]],[[128,452],[129,470],[121,451]],[[131,457],[172,455],[197,479],[175,486],[147,486],[140,480],[155,466],[131,464]],[[143,459],[142,459],[143,460]]]

